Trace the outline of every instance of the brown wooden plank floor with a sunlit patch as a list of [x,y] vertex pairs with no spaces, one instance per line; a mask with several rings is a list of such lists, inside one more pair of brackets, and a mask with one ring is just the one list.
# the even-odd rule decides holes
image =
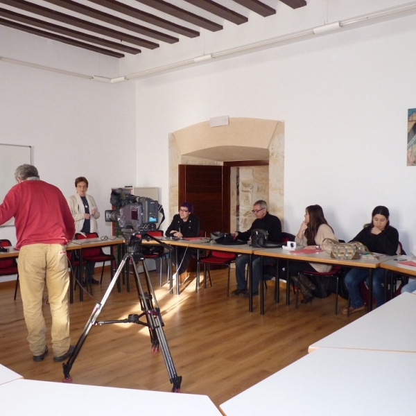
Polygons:
[[[281,302],[275,304],[273,282],[266,293],[266,315],[259,313],[258,297],[254,298],[254,312],[249,313],[248,300],[226,296],[226,272],[212,274],[214,286],[195,293],[192,281],[177,297],[168,292],[167,285],[159,288],[158,276],[150,273],[173,363],[183,377],[182,392],[208,395],[217,406],[306,355],[309,345],[363,314],[334,315],[335,295],[295,309],[294,302],[286,306],[281,291]],[[106,275],[105,285],[94,286],[94,299],[86,296],[84,302],[76,300],[70,305],[72,344],[94,305],[101,302],[109,280]],[[48,304],[44,302],[50,352],[44,361],[35,363],[26,341],[21,298],[18,295],[14,301],[13,291],[11,284],[0,284],[0,363],[25,379],[62,381],[62,363],[52,360]],[[343,304],[340,299],[338,309]],[[127,293],[123,286],[117,293],[114,288],[100,320],[123,319],[130,313],[140,313],[137,291]],[[171,390],[162,353],[151,353],[148,329],[137,324],[93,327],[71,376],[79,384]]]

